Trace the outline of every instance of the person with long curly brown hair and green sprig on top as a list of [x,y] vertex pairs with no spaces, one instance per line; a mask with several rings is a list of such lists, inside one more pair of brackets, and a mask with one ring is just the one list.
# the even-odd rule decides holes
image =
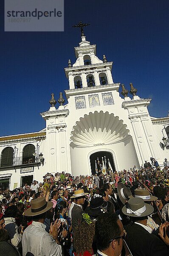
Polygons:
[[74,254],[75,256],[92,256],[95,221],[91,220],[87,213],[82,213],[82,215],[82,222],[76,227],[73,236],[73,248],[76,250]]

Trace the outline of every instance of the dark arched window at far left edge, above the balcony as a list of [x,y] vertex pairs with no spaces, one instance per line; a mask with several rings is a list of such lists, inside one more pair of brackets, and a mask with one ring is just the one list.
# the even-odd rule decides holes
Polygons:
[[7,147],[4,148],[1,154],[0,167],[10,167],[13,166],[14,160],[14,148]]

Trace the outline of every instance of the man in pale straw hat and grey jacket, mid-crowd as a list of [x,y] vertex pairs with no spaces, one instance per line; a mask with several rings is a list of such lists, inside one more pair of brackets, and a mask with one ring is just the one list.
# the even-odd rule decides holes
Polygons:
[[71,199],[75,199],[75,204],[72,208],[71,212],[71,220],[72,220],[72,230],[75,231],[75,228],[82,221],[82,205],[85,203],[85,196],[89,193],[85,193],[83,189],[75,190]]

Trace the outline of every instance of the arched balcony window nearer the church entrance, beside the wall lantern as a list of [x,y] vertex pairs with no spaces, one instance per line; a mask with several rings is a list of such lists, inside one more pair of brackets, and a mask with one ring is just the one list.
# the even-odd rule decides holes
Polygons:
[[23,148],[23,164],[35,163],[35,146],[28,144]]

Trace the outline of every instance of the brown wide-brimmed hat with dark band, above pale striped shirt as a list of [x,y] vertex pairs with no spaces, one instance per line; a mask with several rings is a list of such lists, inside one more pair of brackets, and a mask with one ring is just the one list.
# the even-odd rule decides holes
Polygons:
[[52,202],[46,202],[45,197],[37,198],[31,201],[31,207],[25,210],[25,216],[36,216],[47,212],[53,207]]

